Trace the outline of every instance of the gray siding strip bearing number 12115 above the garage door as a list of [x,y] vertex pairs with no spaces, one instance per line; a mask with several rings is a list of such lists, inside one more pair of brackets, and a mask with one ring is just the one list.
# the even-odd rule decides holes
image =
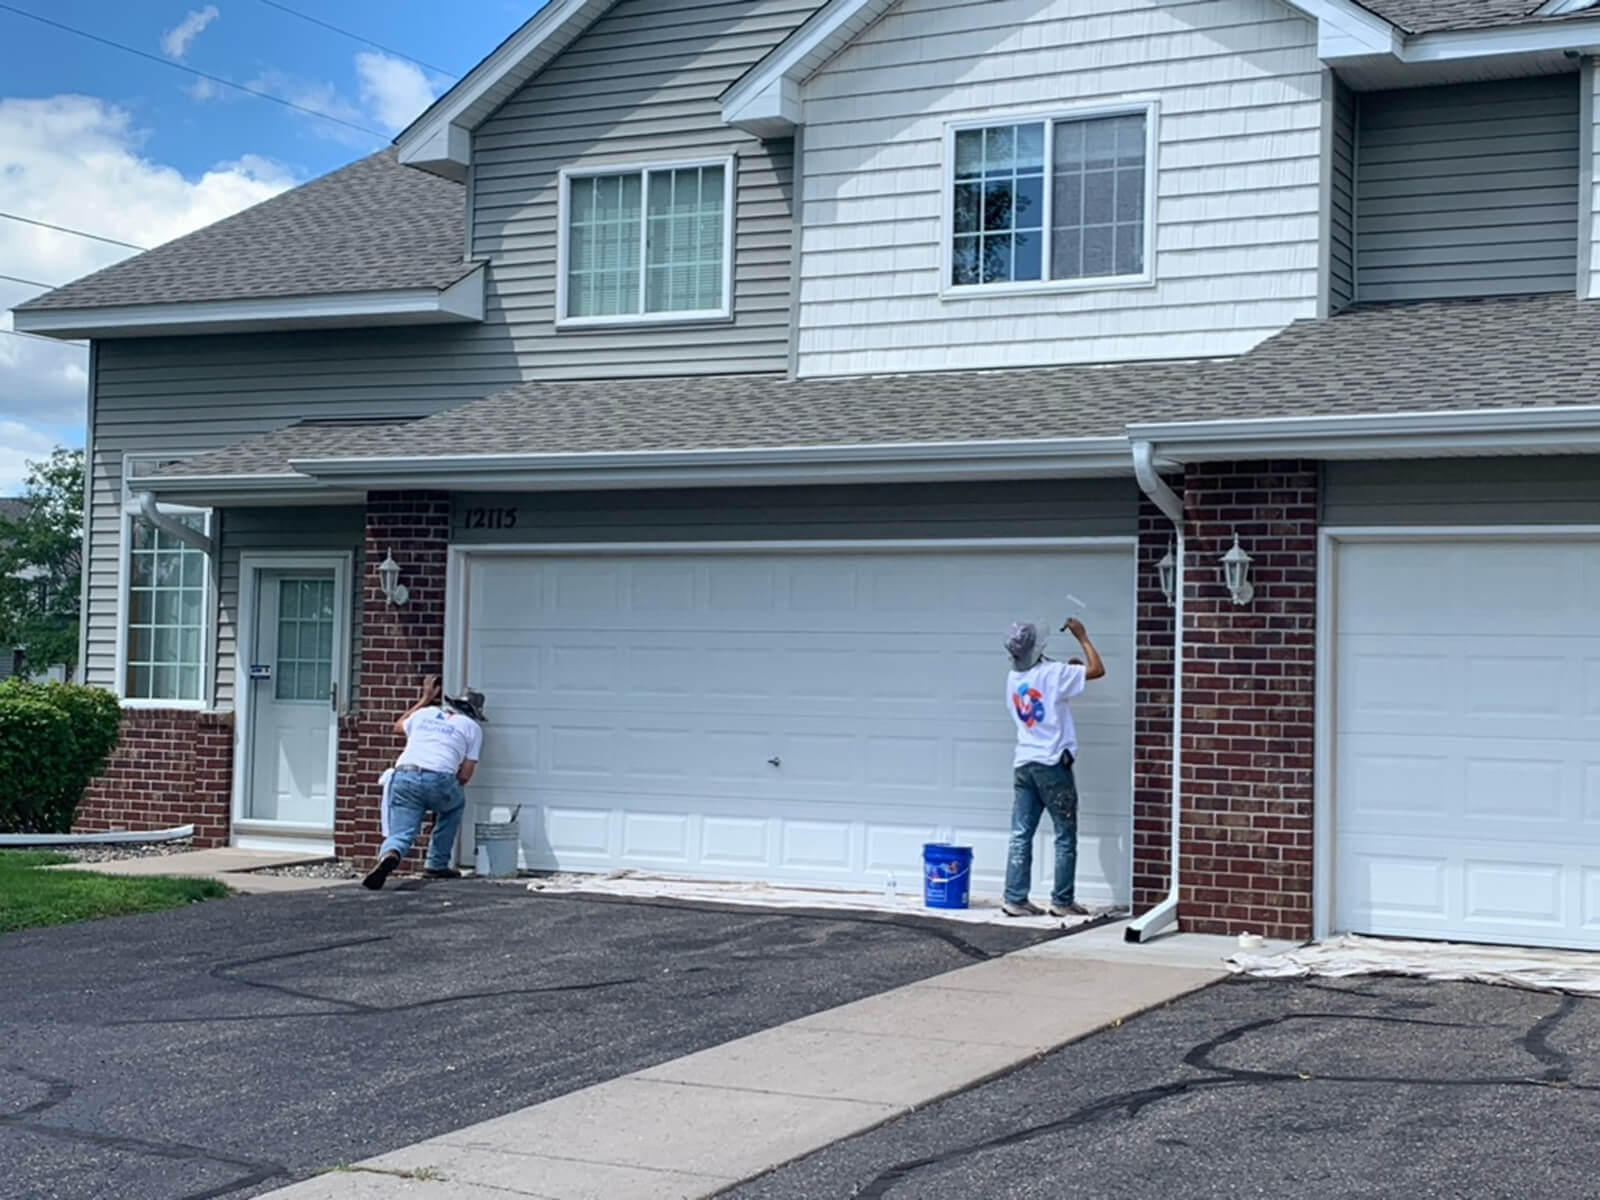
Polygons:
[[[830,541],[872,538],[1115,538],[1138,531],[1133,480],[901,483],[813,488],[458,494],[462,546],[533,542]],[[469,509],[515,525],[469,530]]]

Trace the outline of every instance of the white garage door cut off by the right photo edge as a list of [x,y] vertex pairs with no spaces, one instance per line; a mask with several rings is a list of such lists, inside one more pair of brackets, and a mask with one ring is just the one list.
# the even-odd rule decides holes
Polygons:
[[1338,550],[1334,923],[1600,949],[1600,544]]

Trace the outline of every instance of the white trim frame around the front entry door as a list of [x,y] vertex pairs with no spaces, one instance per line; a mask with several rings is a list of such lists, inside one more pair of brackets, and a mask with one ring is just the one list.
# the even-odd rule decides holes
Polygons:
[[[339,718],[349,712],[350,707],[350,616],[355,603],[350,587],[355,571],[355,558],[349,550],[302,550],[298,554],[242,550],[238,555],[238,624],[234,629],[234,782],[229,798],[230,837],[235,827],[245,826],[258,835],[258,840],[261,834],[274,830],[280,830],[288,838],[302,838],[307,834],[325,834],[331,840],[333,826],[322,830],[296,822],[261,821],[245,816],[245,790],[250,787],[251,768],[254,766],[254,739],[251,736],[254,688],[250,680],[250,659],[254,654],[256,597],[261,587],[261,573],[326,570],[330,566],[333,568],[334,592],[333,682],[339,688],[339,702],[333,712],[333,730],[328,738],[328,787],[334,797],[333,819],[338,819]],[[320,837],[314,837],[312,840],[320,842]]]

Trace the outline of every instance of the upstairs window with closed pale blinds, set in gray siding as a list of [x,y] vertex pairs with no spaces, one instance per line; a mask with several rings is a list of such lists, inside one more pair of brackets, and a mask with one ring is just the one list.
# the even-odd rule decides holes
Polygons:
[[562,176],[562,323],[731,314],[733,160]]

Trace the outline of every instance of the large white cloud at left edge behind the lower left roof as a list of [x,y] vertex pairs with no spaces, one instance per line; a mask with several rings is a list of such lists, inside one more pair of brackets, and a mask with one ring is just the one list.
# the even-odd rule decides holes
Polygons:
[[[126,110],[91,96],[0,99],[5,208],[154,246],[296,182],[282,165],[253,155],[186,179],[141,157],[141,142]],[[0,262],[8,275],[59,285],[131,253],[0,221]],[[37,288],[0,282],[0,330],[11,326],[5,310],[35,294]],[[48,453],[58,437],[82,442],[86,362],[80,346],[0,336],[0,493],[21,478],[13,474],[22,459]]]

